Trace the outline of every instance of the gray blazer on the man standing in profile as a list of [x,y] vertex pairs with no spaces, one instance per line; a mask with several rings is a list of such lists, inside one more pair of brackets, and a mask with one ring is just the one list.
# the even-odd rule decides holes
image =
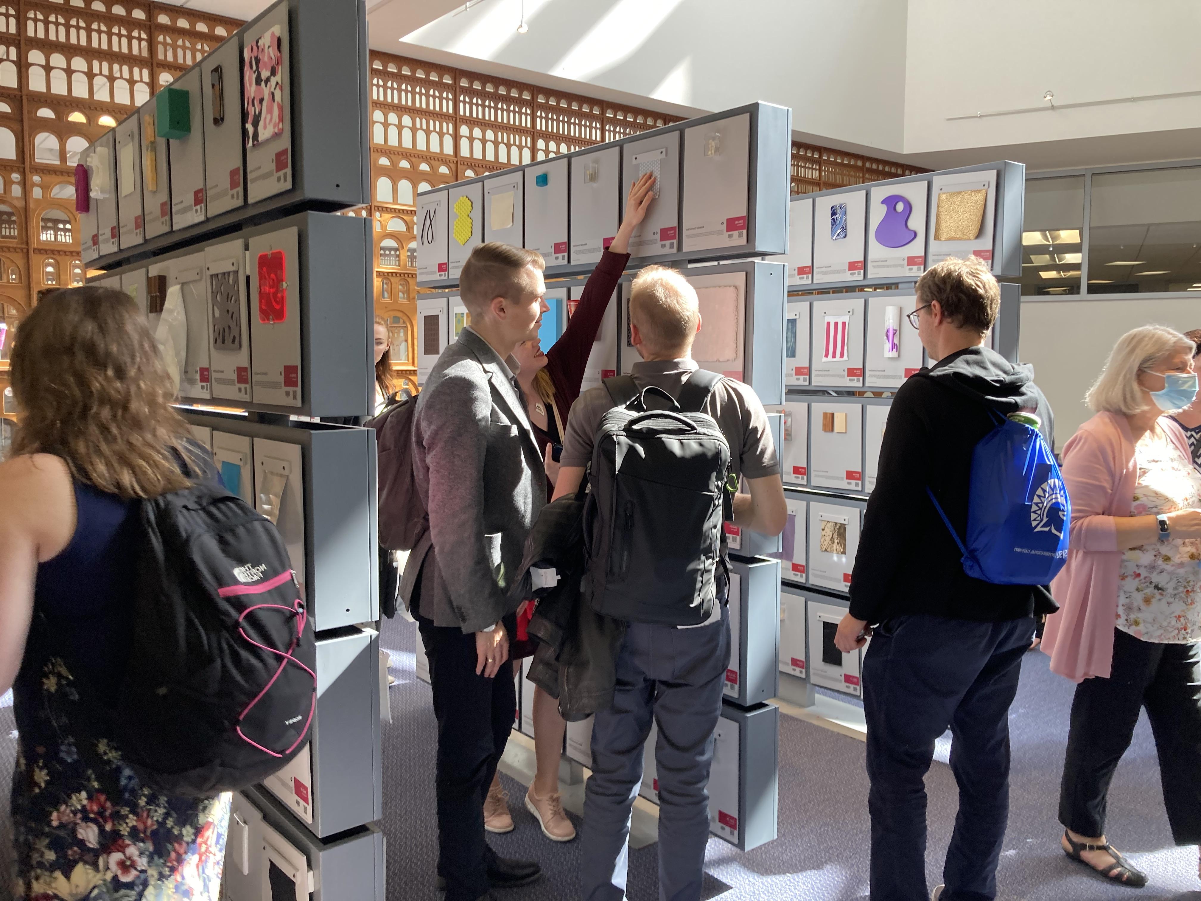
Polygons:
[[412,607],[419,584],[422,615],[435,626],[478,632],[520,603],[508,592],[546,503],[546,476],[519,368],[468,327],[417,399],[413,476],[429,533],[408,556],[400,593]]

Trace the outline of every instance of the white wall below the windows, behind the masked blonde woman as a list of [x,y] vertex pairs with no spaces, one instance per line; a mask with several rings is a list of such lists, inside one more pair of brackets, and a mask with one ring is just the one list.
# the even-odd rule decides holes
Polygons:
[[1022,304],[1021,358],[1054,411],[1056,449],[1093,413],[1085,393],[1115,342],[1139,326],[1201,328],[1201,304],[1179,300],[1038,300]]

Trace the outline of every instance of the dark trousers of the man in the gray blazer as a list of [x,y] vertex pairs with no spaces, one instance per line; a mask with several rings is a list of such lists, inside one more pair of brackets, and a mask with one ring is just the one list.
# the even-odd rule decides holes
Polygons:
[[[446,901],[476,901],[488,893],[488,863],[496,857],[484,841],[484,799],[513,728],[513,668],[502,666],[495,679],[476,675],[473,633],[416,616],[438,721],[438,873]],[[516,634],[516,617],[507,616],[504,628]]]

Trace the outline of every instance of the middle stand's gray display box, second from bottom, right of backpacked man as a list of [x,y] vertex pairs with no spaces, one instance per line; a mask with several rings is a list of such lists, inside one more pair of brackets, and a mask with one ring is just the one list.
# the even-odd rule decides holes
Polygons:
[[779,561],[730,559],[730,666],[724,700],[751,706],[776,697]]

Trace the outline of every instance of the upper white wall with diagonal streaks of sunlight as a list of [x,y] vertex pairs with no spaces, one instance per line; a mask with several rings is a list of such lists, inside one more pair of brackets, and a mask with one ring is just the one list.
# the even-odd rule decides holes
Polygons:
[[800,131],[902,148],[904,0],[526,0],[525,10],[525,35],[520,0],[488,0],[405,42],[698,109],[764,100],[791,107]]

